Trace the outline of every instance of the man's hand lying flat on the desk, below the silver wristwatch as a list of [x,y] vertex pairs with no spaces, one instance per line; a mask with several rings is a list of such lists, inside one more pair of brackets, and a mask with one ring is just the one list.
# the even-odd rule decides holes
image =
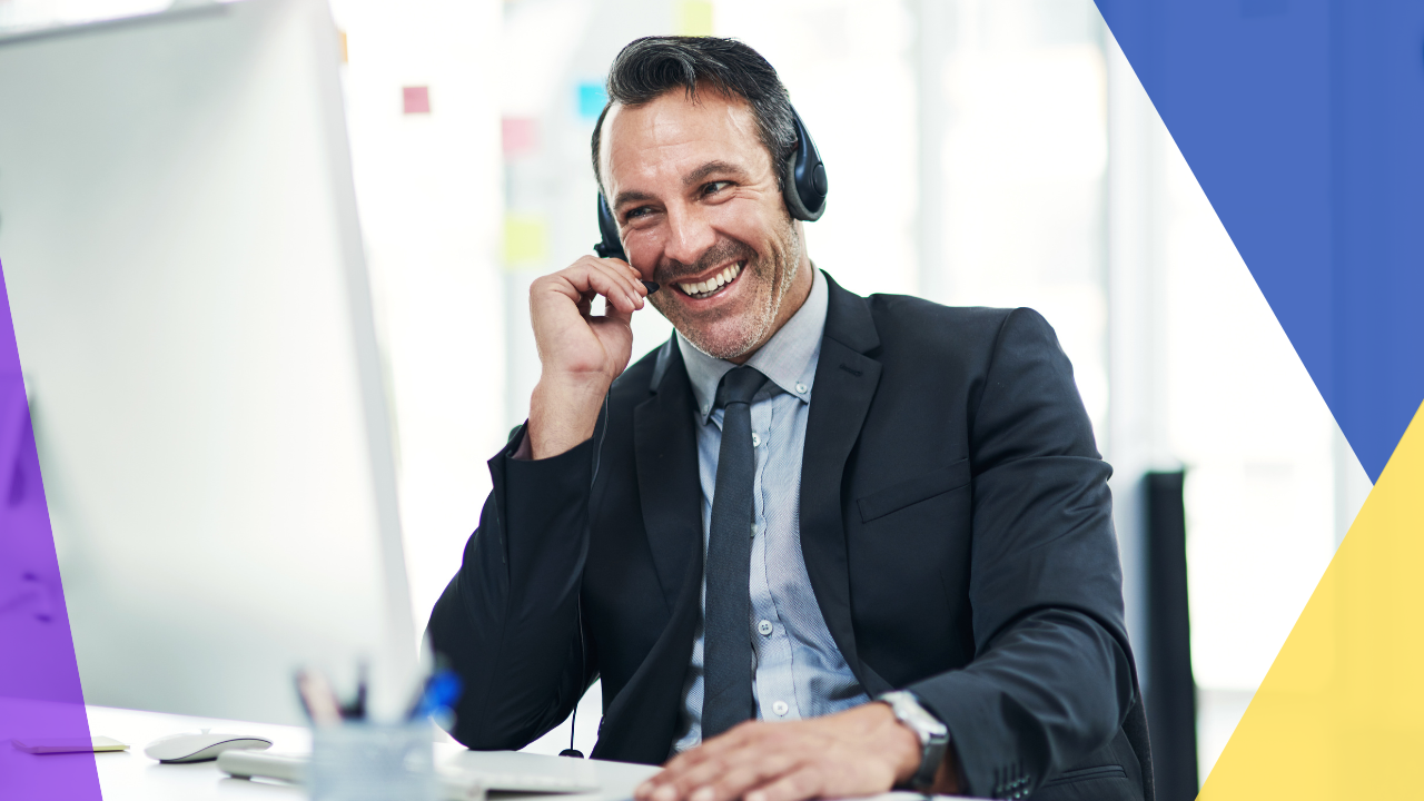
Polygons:
[[[920,767],[920,740],[887,704],[790,723],[748,721],[668,761],[637,801],[802,801],[873,795]],[[958,790],[953,748],[937,792]]]

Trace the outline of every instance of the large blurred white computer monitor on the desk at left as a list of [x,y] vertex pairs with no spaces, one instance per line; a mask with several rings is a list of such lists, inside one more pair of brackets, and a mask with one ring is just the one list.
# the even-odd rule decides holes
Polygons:
[[0,265],[91,704],[296,723],[299,664],[410,678],[339,70],[325,0],[0,40]]

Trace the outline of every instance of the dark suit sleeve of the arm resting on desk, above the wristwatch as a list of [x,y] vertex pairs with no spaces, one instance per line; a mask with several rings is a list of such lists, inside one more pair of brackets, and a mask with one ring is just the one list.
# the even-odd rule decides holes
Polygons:
[[1099,458],[1038,314],[1002,322],[970,403],[974,660],[910,687],[971,795],[1024,797],[1108,744],[1136,698]]

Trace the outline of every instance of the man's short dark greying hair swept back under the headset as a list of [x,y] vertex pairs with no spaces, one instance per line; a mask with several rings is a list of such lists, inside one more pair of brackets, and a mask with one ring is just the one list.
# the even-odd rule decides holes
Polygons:
[[598,180],[600,191],[604,187],[604,177],[598,170],[598,148],[608,110],[614,103],[629,107],[645,105],[675,88],[682,88],[689,100],[696,100],[699,87],[711,87],[745,100],[752,107],[762,145],[772,157],[778,184],[782,181],[780,165],[796,148],[790,94],[766,58],[735,38],[715,36],[635,38],[614,58],[607,87],[608,104],[594,125],[592,141],[594,177]]

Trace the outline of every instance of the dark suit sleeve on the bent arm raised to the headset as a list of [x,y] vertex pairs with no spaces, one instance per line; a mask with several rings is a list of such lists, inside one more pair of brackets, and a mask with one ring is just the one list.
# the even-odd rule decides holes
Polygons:
[[578,607],[592,445],[527,462],[513,458],[523,439],[521,428],[490,460],[480,527],[426,630],[464,680],[451,734],[470,748],[523,748],[597,677]]

